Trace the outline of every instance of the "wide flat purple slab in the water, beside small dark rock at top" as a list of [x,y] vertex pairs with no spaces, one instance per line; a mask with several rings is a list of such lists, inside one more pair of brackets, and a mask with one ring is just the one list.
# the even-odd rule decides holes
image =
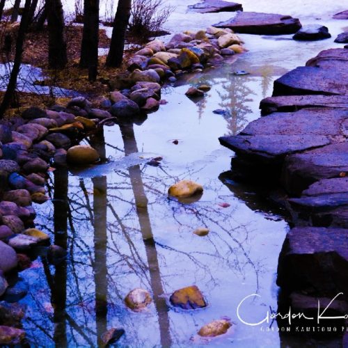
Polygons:
[[214,24],[217,28],[230,28],[236,33],[257,35],[293,34],[301,29],[299,19],[273,13],[239,12],[226,22]]

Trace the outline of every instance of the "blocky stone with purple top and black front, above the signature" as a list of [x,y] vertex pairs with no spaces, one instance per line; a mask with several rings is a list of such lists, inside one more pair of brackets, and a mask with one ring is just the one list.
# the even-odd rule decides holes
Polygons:
[[348,297],[348,230],[293,228],[280,253],[277,284],[287,291]]

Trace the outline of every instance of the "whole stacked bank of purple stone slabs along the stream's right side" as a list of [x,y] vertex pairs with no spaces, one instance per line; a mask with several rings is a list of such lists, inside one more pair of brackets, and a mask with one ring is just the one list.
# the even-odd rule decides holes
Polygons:
[[[274,96],[260,104],[267,116],[220,138],[236,152],[235,177],[271,178],[285,189],[294,228],[279,257],[279,306],[308,317],[317,299],[330,303],[342,292],[328,311],[336,315],[348,303],[347,71],[348,49],[320,52],[274,82]],[[319,323],[337,324],[345,320]]]

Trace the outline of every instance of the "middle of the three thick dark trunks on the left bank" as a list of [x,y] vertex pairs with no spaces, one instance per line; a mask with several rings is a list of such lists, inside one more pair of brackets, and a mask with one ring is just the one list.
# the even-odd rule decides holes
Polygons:
[[95,80],[98,65],[99,0],[84,1],[84,31],[82,33],[80,67],[88,68],[89,79]]

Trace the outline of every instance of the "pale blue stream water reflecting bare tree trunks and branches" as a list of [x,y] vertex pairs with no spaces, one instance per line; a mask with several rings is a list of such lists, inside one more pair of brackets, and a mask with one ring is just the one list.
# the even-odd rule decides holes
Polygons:
[[[167,24],[171,31],[201,29],[230,17],[186,13],[189,3],[168,2],[177,6]],[[24,329],[33,346],[95,347],[111,327],[125,329],[120,347],[280,346],[276,322],[243,324],[237,306],[248,295],[260,295],[241,308],[247,322],[276,311],[276,269],[288,226],[280,209],[230,179],[233,153],[218,138],[237,134],[260,117],[260,100],[271,95],[274,79],[322,49],[340,47],[333,39],[347,22],[329,18],[348,4],[244,2],[244,10],[302,15],[305,24],[321,17],[333,38],[299,43],[290,35],[241,35],[249,52],[237,62],[185,75],[162,90],[168,104],[147,120],[104,127],[87,139],[106,163],[50,174],[52,200],[35,207],[36,223],[54,244],[67,248],[68,259],[52,266],[38,257],[19,275],[29,285],[21,302],[28,306]],[[251,74],[234,76],[235,70]],[[212,86],[203,100],[194,103],[184,95],[202,83]],[[226,113],[216,115],[215,109]],[[164,158],[161,166],[147,164],[158,156]],[[203,184],[198,202],[168,198],[168,187],[182,179]],[[200,227],[209,228],[209,235],[193,235]],[[168,296],[189,285],[200,288],[207,308],[171,308]],[[127,310],[123,302],[135,287],[149,290],[154,299],[142,313]],[[230,334],[198,339],[200,326],[221,317],[235,323]]]

